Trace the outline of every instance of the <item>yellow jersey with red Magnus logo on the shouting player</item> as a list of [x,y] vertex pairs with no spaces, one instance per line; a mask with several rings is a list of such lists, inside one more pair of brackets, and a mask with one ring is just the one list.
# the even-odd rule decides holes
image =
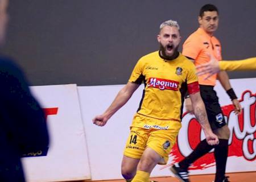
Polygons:
[[174,60],[163,59],[159,51],[141,57],[129,81],[144,82],[137,113],[156,119],[180,121],[181,92],[199,92],[195,65],[181,53]]

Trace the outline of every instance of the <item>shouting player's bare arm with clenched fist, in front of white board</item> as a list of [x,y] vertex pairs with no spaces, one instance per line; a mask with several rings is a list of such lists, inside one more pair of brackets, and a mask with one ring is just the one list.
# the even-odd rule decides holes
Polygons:
[[134,82],[128,82],[117,94],[112,104],[101,115],[96,115],[93,118],[93,123],[97,126],[104,126],[108,122],[109,118],[118,111],[126,102],[131,98],[135,90],[139,87],[139,84]]

